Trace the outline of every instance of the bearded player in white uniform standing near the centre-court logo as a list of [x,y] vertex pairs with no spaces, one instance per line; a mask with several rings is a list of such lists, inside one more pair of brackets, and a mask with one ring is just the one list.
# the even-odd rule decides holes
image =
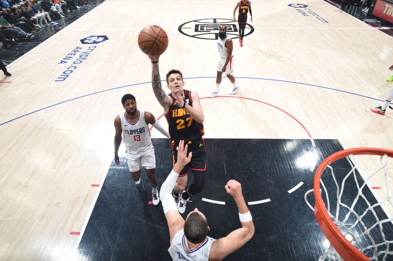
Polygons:
[[233,77],[233,43],[232,39],[226,34],[226,26],[220,26],[218,35],[217,46],[220,57],[217,62],[216,90],[209,95],[210,98],[220,96],[220,84],[223,72],[225,72],[226,77],[233,84],[233,90],[229,94],[234,95],[240,91],[240,86],[236,83],[235,77]]

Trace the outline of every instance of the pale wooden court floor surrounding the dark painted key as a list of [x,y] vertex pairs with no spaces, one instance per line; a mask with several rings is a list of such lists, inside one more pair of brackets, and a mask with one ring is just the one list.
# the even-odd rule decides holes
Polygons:
[[[299,3],[307,7],[293,5]],[[216,41],[190,35],[197,34],[196,24],[227,21],[236,26],[229,21],[235,4],[229,0],[107,0],[8,66],[12,77],[0,78],[0,260],[88,259],[78,245],[111,168],[113,120],[123,110],[121,97],[132,93],[140,109],[156,118],[162,114],[151,90],[150,61],[137,45],[140,29],[155,24],[167,31],[169,46],[160,58],[161,77],[178,68],[185,88],[206,98],[215,87]],[[248,23],[253,33],[245,37],[244,47],[233,39],[234,76],[242,90],[234,97],[201,100],[205,138],[212,142],[306,140],[315,151],[321,148],[314,140],[324,139],[338,140],[343,148],[392,148],[393,110],[387,109],[382,116],[369,109],[381,104],[392,87],[385,81],[393,64],[392,38],[322,0],[254,0],[252,7],[253,22]],[[203,37],[214,37],[216,32],[213,26],[213,34]],[[108,40],[82,44],[81,39],[89,36]],[[221,95],[229,96],[231,88],[223,78]],[[164,118],[160,122],[166,125]],[[163,138],[156,130],[152,137],[156,142]],[[321,155],[315,157],[307,160],[306,169],[320,162]],[[377,168],[376,161],[365,157],[358,162],[361,173]],[[125,180],[121,182],[130,183],[124,167],[123,162]],[[168,166],[162,169],[167,171]],[[277,171],[280,174],[280,168]],[[392,174],[392,165],[389,171]],[[272,182],[291,179],[288,173],[282,174],[274,175]],[[307,182],[293,193],[298,194],[299,206],[305,205],[303,195],[312,188],[312,175],[309,171]],[[159,178],[162,183],[165,174]],[[381,181],[373,184],[381,187],[373,194],[383,198],[386,189]],[[243,187],[247,189],[247,184]],[[209,188],[206,185],[203,197],[212,195]],[[137,191],[135,185],[127,189],[125,193]],[[261,199],[250,191],[245,196],[248,202]],[[195,199],[197,204],[202,204],[200,197]],[[214,214],[212,206],[205,208]],[[297,226],[297,217],[313,215],[310,209],[293,209],[294,205],[274,206],[272,210],[260,204],[251,210],[267,211],[271,219],[280,219],[281,211],[287,210],[295,217],[293,224],[283,228],[289,231]],[[235,216],[236,208],[229,210],[227,214]],[[393,215],[391,209],[385,210]],[[322,237],[316,221],[312,222],[312,229]],[[234,229],[236,219],[226,225],[225,229]],[[270,233],[263,220],[258,220],[258,226]],[[132,247],[150,243],[143,236],[138,242],[134,239]],[[250,244],[242,253],[263,253],[263,241]],[[302,251],[293,252],[293,260],[309,259]],[[235,255],[230,260],[245,257]],[[110,260],[111,256],[93,259]],[[264,256],[247,260],[264,260]]]

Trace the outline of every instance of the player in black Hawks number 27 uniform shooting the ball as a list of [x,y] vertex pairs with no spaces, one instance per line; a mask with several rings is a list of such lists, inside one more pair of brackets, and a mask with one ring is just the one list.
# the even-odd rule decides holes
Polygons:
[[[186,210],[186,202],[190,196],[199,193],[205,185],[206,149],[202,138],[203,110],[197,92],[184,90],[183,75],[178,70],[171,70],[167,74],[167,95],[162,88],[158,59],[160,56],[149,56],[152,65],[152,86],[158,102],[164,108],[168,120],[169,135],[173,152],[173,164],[177,160],[177,149],[180,140],[188,144],[188,153],[192,153],[192,160],[180,172],[173,189],[173,196],[178,199],[177,206],[180,213]],[[194,183],[186,189],[189,170],[194,175]]]

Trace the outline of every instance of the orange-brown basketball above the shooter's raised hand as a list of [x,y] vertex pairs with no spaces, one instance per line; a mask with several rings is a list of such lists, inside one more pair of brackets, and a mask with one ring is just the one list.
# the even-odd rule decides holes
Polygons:
[[168,35],[160,26],[146,26],[138,35],[138,45],[147,55],[161,55],[167,50]]

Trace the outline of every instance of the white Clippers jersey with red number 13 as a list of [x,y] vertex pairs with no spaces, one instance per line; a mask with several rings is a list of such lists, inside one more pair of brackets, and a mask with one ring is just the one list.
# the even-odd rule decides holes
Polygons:
[[134,124],[127,120],[126,113],[127,112],[120,114],[120,121],[127,151],[131,151],[130,148],[142,148],[147,146],[151,142],[151,134],[149,125],[146,124],[144,119],[144,111],[138,110],[139,117]]

